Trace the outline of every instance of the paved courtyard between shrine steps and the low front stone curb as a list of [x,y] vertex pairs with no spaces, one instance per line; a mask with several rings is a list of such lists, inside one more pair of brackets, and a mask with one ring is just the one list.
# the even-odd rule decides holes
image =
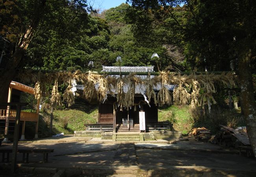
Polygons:
[[[11,148],[12,144],[2,144],[0,149],[6,147]],[[46,164],[42,162],[42,154],[30,154],[29,163],[25,164],[28,166],[154,170],[180,166],[256,172],[255,159],[239,156],[234,149],[196,141],[178,141],[176,144],[122,143],[66,136],[19,143],[19,149],[26,147],[54,149]],[[17,160],[21,163],[22,154],[18,153]]]

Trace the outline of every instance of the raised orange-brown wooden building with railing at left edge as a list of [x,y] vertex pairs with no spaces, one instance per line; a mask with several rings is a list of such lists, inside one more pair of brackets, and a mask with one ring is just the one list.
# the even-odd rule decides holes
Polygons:
[[[12,102],[19,102],[20,101],[20,91],[22,92],[27,92],[29,94],[34,94],[34,89],[32,87],[26,86],[24,84],[11,81],[10,86],[9,86],[9,92],[8,92],[8,103]],[[20,112],[20,121],[22,121],[22,133],[21,133],[21,138],[20,140],[24,140],[25,136],[25,124],[26,121],[32,121],[36,122],[36,127],[35,127],[35,138],[38,138],[37,131],[38,131],[38,118],[39,118],[39,100],[37,100],[37,112]],[[16,117],[16,110],[15,107],[13,106],[7,106],[5,109],[0,109],[0,120],[5,120],[5,141],[8,140],[7,135],[9,131],[9,122],[14,122]]]

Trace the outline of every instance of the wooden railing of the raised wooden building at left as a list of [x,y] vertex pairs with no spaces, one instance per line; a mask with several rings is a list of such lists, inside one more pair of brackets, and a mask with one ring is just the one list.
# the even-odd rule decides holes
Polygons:
[[[16,117],[16,110],[9,110],[9,118],[15,119]],[[8,110],[6,109],[0,109],[0,119],[6,119],[8,118]],[[38,114],[34,112],[20,112],[20,120],[21,121],[38,121]]]

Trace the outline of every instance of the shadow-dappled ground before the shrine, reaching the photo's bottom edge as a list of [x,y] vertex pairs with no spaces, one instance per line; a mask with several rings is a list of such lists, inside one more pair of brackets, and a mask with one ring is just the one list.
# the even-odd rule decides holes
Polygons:
[[[251,176],[256,174],[256,160],[239,156],[237,150],[197,141],[167,143],[169,142],[166,140],[123,143],[103,141],[100,138],[63,136],[19,143],[20,149],[26,147],[54,149],[54,152],[49,154],[48,163],[43,164],[42,154],[30,154],[29,163],[22,164],[22,155],[18,153],[17,160],[21,167],[64,169],[67,176],[125,174],[126,176],[169,176],[171,174],[174,176],[182,176],[182,174],[183,176],[185,174],[188,176],[190,174]],[[2,144],[0,149],[6,147],[11,148],[12,144]],[[80,169],[80,172],[76,174],[70,170],[74,168]],[[81,171],[81,169],[84,170]]]

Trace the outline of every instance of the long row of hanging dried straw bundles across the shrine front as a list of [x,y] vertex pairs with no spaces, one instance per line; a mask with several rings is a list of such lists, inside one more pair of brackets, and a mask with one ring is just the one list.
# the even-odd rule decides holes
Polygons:
[[[108,94],[117,94],[117,105],[122,110],[123,107],[132,107],[135,105],[134,96],[135,88],[145,90],[145,95],[148,101],[154,102],[155,105],[164,105],[172,103],[171,92],[167,89],[166,85],[178,85],[173,90],[173,101],[180,105],[186,105],[191,102],[191,107],[202,103],[204,100],[211,100],[215,103],[212,96],[215,93],[215,85],[219,83],[228,87],[234,86],[234,74],[232,72],[222,73],[222,74],[190,74],[181,75],[179,73],[160,71],[159,76],[150,77],[150,75],[144,80],[141,77],[136,76],[135,73],[131,73],[128,76],[106,76],[96,74],[95,72],[81,72],[77,70],[74,73],[71,72],[46,72],[42,73],[34,70],[25,70],[19,72],[17,79],[24,81],[26,83],[35,82],[35,98],[40,99],[44,93],[45,85],[54,82],[54,87],[52,89],[52,105],[56,106],[61,104],[60,95],[58,93],[58,81],[61,83],[68,83],[70,79],[75,79],[76,81],[84,85],[83,96],[86,100],[98,100],[103,102]],[[56,79],[58,78],[58,80]],[[154,88],[161,84],[159,92],[155,92]],[[192,85],[191,94],[186,88]],[[124,86],[127,88],[127,92],[124,92]],[[63,94],[63,100],[67,100],[69,106],[74,103],[74,95],[72,93],[71,85]],[[199,90],[204,91],[203,94],[199,94]],[[200,101],[198,101],[200,100]]]

